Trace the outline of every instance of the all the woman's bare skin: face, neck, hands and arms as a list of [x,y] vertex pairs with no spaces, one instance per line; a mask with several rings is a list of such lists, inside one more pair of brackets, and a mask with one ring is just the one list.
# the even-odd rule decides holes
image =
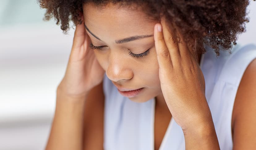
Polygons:
[[[183,40],[181,43],[176,42],[177,40],[173,38],[173,31],[166,28],[164,18],[161,18],[161,22],[151,24],[152,21],[146,19],[147,17],[145,18],[139,10],[132,14],[134,10],[117,9],[114,6],[108,6],[101,10],[93,5],[87,5],[86,9],[91,11],[84,11],[85,16],[81,14],[82,20],[87,18],[88,21],[83,24],[88,24],[88,28],[100,39],[104,39],[106,43],[93,39],[83,25],[76,26],[66,73],[57,88],[55,115],[46,149],[103,149],[104,94],[102,79],[109,66],[107,75],[113,83],[136,86],[129,88],[140,88],[147,85],[144,92],[152,90],[152,96],[156,95],[155,149],[159,148],[171,117],[183,129],[186,149],[219,149],[211,114],[204,96],[204,79],[198,67],[200,55],[190,51]],[[89,17],[94,19],[93,22],[89,22]],[[145,22],[141,22],[141,20]],[[129,23],[130,25],[127,25]],[[160,32],[157,30],[159,25],[162,26]],[[171,29],[174,27],[172,26]],[[133,41],[135,43],[132,44],[119,45],[114,41],[138,35],[138,33],[154,34],[154,46],[149,55],[137,60],[127,56],[127,49],[131,49],[132,45],[134,49],[131,50],[134,53],[136,51],[141,53],[141,50],[146,47],[143,44],[151,43],[151,37]],[[182,36],[179,36],[182,39]],[[101,52],[93,51],[88,47],[91,41],[95,45],[106,44],[110,48]],[[137,47],[139,50],[135,49]],[[147,48],[144,50],[146,51]],[[108,57],[105,58],[105,55]],[[106,64],[102,64],[100,61],[106,61],[104,62]],[[130,62],[127,64],[127,61]],[[149,65],[143,64],[141,61],[151,63],[151,65],[156,63],[158,66],[155,64],[155,67],[158,70],[152,66],[148,67]],[[143,66],[136,67],[133,63]],[[150,70],[151,72],[148,74],[149,70],[144,72],[143,67],[153,70]],[[127,74],[122,74],[121,71],[125,71]],[[143,74],[147,78],[142,78],[139,74]],[[232,115],[233,149],[254,149],[256,147],[254,140],[256,134],[254,127],[256,124],[255,74],[256,59],[246,68],[235,98]],[[155,79],[157,75],[159,79]],[[142,80],[138,81],[139,79]],[[144,81],[146,79],[148,82],[154,81],[159,84],[146,84]],[[131,81],[138,83],[132,82],[134,84],[131,84]],[[157,95],[159,87],[161,92]],[[150,96],[147,95],[139,96],[144,99],[142,101],[137,98],[131,100],[143,102],[150,99],[148,98]],[[186,115],[189,117],[185,117]]]

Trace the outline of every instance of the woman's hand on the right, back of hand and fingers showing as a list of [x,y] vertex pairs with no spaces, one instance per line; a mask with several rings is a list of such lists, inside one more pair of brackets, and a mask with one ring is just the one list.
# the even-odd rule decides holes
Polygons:
[[170,28],[164,18],[161,18],[161,24],[157,23],[154,27],[159,78],[165,102],[183,131],[199,125],[212,126],[211,112],[205,97],[205,81],[197,54],[188,48],[178,31],[177,36],[174,35],[173,26]]

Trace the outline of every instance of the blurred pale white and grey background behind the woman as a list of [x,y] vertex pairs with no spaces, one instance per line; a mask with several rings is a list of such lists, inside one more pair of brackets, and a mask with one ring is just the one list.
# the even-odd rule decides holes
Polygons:
[[[237,43],[256,44],[256,2]],[[43,150],[56,88],[66,71],[74,30],[65,35],[36,0],[0,0],[0,150]]]

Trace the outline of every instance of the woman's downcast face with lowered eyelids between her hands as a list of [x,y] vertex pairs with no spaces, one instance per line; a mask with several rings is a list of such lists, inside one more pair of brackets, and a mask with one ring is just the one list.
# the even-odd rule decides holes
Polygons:
[[113,84],[121,91],[142,88],[129,96],[134,102],[162,94],[153,36],[157,22],[142,11],[113,4],[104,8],[86,4],[83,15],[92,45],[101,47],[94,50],[95,56]]

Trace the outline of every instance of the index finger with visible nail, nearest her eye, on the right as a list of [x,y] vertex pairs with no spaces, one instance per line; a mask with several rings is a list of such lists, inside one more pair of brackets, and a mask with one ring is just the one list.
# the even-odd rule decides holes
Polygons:
[[172,60],[169,50],[164,42],[162,26],[160,23],[157,23],[154,27],[154,40],[159,67],[163,69],[172,69]]

